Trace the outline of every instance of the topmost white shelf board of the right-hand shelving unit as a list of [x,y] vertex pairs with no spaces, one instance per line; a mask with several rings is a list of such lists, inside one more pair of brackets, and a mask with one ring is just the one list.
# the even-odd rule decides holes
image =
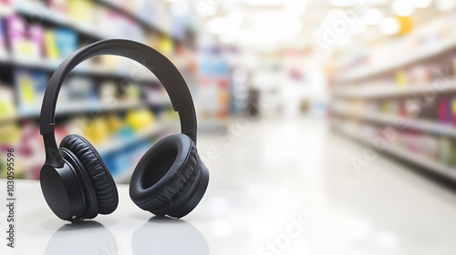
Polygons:
[[452,39],[445,43],[442,43],[440,46],[435,45],[432,48],[428,48],[427,50],[416,51],[418,54],[409,54],[407,57],[391,58],[391,61],[389,63],[378,63],[376,65],[358,67],[355,70],[349,71],[344,75],[338,76],[336,80],[340,83],[346,83],[368,78],[369,76],[377,76],[402,66],[408,66],[410,64],[429,59],[430,57],[438,56],[455,47],[456,39]]

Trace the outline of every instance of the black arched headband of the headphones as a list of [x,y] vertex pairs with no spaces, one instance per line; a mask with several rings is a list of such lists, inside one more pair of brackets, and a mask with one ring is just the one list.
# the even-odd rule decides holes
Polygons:
[[150,46],[130,40],[109,39],[83,47],[73,55],[68,56],[67,59],[57,67],[56,71],[49,79],[39,119],[40,133],[45,140],[47,163],[59,166],[63,165],[63,161],[59,155],[57,155],[57,157],[52,157],[53,154],[51,153],[52,151],[50,151],[57,151],[54,135],[54,122],[60,87],[62,87],[63,82],[73,68],[90,57],[100,55],[128,57],[139,62],[141,65],[146,66],[155,76],[157,76],[171,98],[171,104],[174,111],[179,113],[181,119],[181,132],[192,138],[193,142],[196,143],[197,125],[192,95],[176,66],[174,66],[166,56],[161,55],[161,53]]

